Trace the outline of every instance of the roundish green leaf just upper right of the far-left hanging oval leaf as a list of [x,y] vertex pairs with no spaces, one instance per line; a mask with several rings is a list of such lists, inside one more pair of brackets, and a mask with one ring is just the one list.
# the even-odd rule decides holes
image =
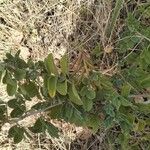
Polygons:
[[15,70],[15,72],[14,72],[14,76],[15,76],[16,80],[18,80],[18,81],[19,81],[19,80],[22,80],[22,79],[24,79],[25,76],[26,76],[26,71],[23,70],[23,69],[17,68],[17,69]]

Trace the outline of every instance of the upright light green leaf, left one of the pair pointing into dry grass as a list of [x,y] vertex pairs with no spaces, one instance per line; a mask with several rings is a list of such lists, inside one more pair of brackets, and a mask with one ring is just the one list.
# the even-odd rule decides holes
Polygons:
[[44,64],[49,75],[51,74],[58,75],[57,67],[55,66],[52,53],[49,54],[47,58],[45,58]]

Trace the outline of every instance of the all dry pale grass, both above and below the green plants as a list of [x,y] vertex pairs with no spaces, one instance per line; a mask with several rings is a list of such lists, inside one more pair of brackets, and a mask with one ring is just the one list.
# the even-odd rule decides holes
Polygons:
[[[111,11],[110,0],[0,0],[0,58],[8,51],[14,53],[20,49],[25,59],[44,59],[50,52],[60,59],[66,51],[71,56],[81,50],[90,52],[98,43],[102,44],[106,53],[110,48],[112,51],[111,41],[108,43],[105,35]],[[104,55],[103,60],[106,57]],[[115,63],[116,59],[113,66]],[[109,63],[106,65],[104,68],[112,68]],[[104,71],[103,67],[101,70]],[[4,90],[0,94],[2,99],[8,99]],[[30,119],[32,122],[33,118]],[[30,120],[26,122],[30,123]],[[75,147],[78,149],[79,145],[82,147],[82,142],[78,140],[78,146],[71,146],[71,142],[87,130],[66,123],[60,124],[60,128],[65,131],[59,139],[36,135],[32,142],[27,138],[18,145],[13,145],[7,138],[10,125],[6,124],[0,133],[0,149],[69,150]],[[87,143],[90,132],[82,136],[87,138],[84,140]],[[91,138],[94,141],[92,145],[82,148],[90,149],[96,142],[102,143],[103,136],[102,133],[95,140]]]

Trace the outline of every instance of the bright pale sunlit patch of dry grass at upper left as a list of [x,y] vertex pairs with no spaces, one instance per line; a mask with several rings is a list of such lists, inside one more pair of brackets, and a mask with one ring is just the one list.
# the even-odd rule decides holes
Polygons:
[[60,58],[67,50],[66,40],[72,33],[72,14],[78,8],[75,4],[53,0],[5,1],[0,6],[0,49],[21,49],[25,57],[30,51],[36,59],[53,52]]

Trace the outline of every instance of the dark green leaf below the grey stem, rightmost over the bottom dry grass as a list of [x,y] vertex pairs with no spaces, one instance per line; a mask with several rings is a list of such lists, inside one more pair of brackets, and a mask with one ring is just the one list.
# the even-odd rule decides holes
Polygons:
[[59,132],[58,128],[56,128],[56,127],[55,127],[53,124],[51,124],[50,122],[45,122],[45,124],[46,124],[46,129],[47,129],[49,135],[50,135],[51,137],[56,137],[56,138],[58,138],[58,137],[59,137],[59,135],[58,135],[58,132]]

